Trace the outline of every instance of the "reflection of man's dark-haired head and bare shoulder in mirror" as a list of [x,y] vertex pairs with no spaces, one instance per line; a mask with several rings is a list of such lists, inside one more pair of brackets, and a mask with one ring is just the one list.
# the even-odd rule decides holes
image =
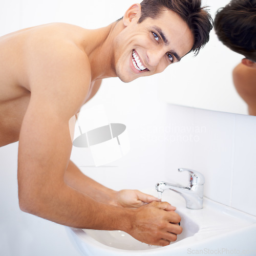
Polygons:
[[225,46],[245,57],[233,70],[233,82],[256,116],[256,0],[232,0],[217,12],[214,28]]

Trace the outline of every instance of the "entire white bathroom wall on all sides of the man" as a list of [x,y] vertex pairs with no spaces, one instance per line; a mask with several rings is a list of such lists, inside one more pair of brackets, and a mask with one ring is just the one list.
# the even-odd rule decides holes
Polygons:
[[[133,1],[112,0],[111,3],[1,2],[0,35],[48,22],[68,22],[89,28],[105,26],[119,18]],[[200,74],[201,79],[207,77]],[[113,189],[154,188],[160,180],[186,183],[186,174],[178,173],[177,168],[192,168],[205,175],[206,197],[256,215],[252,198],[256,194],[253,184],[256,178],[255,117],[166,104],[159,86],[167,86],[169,80],[168,72],[128,84],[118,78],[104,80],[86,108],[103,103],[110,122],[124,123],[131,151],[98,168],[92,166],[88,150],[74,148],[72,159],[84,173]],[[19,210],[17,146],[14,143],[0,148],[1,254],[78,255],[65,228]]]

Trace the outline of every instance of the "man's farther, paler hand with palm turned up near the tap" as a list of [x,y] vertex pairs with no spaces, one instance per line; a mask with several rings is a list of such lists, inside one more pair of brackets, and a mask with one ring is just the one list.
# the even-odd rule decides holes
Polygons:
[[153,201],[160,201],[158,198],[144,194],[139,190],[123,189],[116,192],[115,204],[122,207],[140,207]]

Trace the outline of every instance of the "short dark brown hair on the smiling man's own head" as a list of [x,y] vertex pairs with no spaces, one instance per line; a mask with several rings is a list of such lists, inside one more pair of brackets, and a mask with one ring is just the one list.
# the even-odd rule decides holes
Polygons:
[[163,8],[176,12],[194,35],[194,46],[191,51],[195,55],[209,41],[213,20],[206,8],[201,7],[201,0],[143,0],[140,5],[141,16],[138,23],[147,17],[158,18]]

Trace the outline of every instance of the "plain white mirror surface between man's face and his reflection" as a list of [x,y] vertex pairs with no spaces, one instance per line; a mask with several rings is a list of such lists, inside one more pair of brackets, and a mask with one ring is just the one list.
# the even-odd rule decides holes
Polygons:
[[[212,18],[230,0],[205,0]],[[247,104],[233,86],[232,70],[244,56],[229,50],[217,38],[214,29],[210,40],[198,56],[186,55],[164,72],[160,98],[168,103],[194,108],[248,114]]]

